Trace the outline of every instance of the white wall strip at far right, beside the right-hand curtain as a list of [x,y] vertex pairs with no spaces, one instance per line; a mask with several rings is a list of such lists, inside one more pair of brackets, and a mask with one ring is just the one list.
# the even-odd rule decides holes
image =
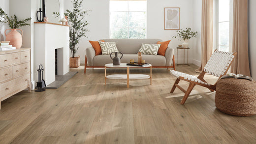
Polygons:
[[248,0],[249,61],[251,75],[256,79],[256,0]]

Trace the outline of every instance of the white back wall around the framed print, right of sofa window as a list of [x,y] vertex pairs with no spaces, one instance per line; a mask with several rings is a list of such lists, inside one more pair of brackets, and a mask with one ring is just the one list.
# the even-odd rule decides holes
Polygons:
[[[180,28],[193,29],[193,0],[147,0],[147,38],[160,38],[163,41],[171,40],[169,47],[174,48],[175,60],[176,47],[183,42],[172,38],[176,36],[176,30],[164,30],[163,8],[164,7],[180,7]],[[193,31],[196,31],[193,29]],[[193,52],[196,50],[194,41],[197,38],[190,39],[189,63],[194,63]],[[183,62],[183,51],[178,51],[178,62]],[[187,52],[185,52],[187,58]]]

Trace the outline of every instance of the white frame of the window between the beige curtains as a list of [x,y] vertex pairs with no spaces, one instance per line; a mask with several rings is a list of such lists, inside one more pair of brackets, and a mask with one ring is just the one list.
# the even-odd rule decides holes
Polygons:
[[214,46],[213,49],[218,49],[219,46],[227,46],[219,44],[219,24],[224,22],[229,22],[229,42],[228,42],[228,52],[232,51],[232,36],[233,36],[233,0],[229,0],[229,21],[219,22],[219,1],[214,0]]

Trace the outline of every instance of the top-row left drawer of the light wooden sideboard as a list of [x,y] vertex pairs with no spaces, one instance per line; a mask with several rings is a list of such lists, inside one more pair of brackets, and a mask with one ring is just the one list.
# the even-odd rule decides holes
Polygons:
[[6,55],[0,55],[0,67],[16,64],[21,62],[20,53],[12,53]]

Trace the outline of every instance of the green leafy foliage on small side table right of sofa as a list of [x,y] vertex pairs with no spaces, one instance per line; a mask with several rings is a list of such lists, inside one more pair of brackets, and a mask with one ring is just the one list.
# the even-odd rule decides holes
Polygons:
[[197,36],[197,31],[193,32],[191,28],[186,28],[186,29],[180,29],[177,30],[177,35],[173,36],[172,38],[179,38],[181,40],[185,40],[185,39],[191,39],[192,37],[196,37]]

